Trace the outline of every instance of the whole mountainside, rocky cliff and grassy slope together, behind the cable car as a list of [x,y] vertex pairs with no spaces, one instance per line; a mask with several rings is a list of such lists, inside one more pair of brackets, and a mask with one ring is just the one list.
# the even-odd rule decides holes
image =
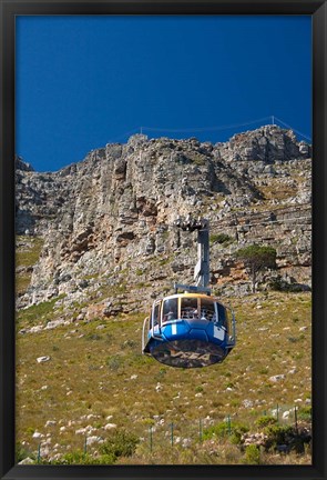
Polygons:
[[[17,159],[22,457],[39,449],[62,461],[80,449],[75,461],[95,461],[125,429],[136,450],[111,461],[252,462],[244,429],[258,433],[263,416],[294,427],[295,409],[308,433],[310,153],[292,131],[266,126],[214,146],[134,136],[58,172]],[[237,319],[234,351],[200,370],[141,356],[153,299],[192,282],[195,236],[174,227],[187,213],[210,220],[212,287]],[[278,267],[255,294],[235,254],[253,243],[274,247]],[[215,426],[226,419],[219,438]],[[264,449],[259,461],[310,462],[307,448],[298,453]]]

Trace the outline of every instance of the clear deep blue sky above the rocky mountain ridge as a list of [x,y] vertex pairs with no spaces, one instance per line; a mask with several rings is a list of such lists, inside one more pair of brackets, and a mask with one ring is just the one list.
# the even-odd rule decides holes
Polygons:
[[141,127],[215,143],[276,116],[311,136],[309,16],[23,16],[16,72],[16,150],[38,171]]

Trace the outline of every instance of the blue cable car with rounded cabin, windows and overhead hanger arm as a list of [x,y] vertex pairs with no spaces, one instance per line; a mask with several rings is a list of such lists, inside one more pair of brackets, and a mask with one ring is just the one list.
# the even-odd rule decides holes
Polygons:
[[[178,220],[186,231],[197,230],[196,286],[175,284],[175,294],[153,303],[145,318],[142,352],[171,367],[196,368],[222,362],[236,343],[235,316],[211,297],[208,221]],[[183,289],[183,293],[178,293]]]

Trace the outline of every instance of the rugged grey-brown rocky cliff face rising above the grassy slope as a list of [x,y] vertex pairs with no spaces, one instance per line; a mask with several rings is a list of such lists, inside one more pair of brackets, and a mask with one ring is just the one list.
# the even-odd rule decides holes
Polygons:
[[192,281],[195,237],[173,226],[187,213],[210,219],[212,283],[225,294],[247,291],[235,251],[253,242],[276,248],[285,281],[309,286],[310,150],[267,126],[215,146],[134,136],[54,173],[19,159],[17,232],[43,248],[18,307],[64,294],[131,311]]

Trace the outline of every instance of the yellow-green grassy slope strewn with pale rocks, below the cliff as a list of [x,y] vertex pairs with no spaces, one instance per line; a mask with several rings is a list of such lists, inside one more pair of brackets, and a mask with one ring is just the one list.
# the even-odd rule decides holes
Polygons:
[[[44,307],[40,307],[42,316]],[[155,423],[154,416],[161,416],[163,426],[154,432],[154,442],[162,432],[161,444],[168,446],[171,422],[175,436],[196,439],[200,419],[205,424],[207,417],[219,422],[229,414],[252,426],[277,403],[285,408],[305,404],[310,398],[310,296],[258,293],[234,299],[233,307],[237,347],[222,364],[205,369],[173,369],[141,356],[143,314],[19,334],[17,439],[37,450],[40,440],[32,439],[32,433],[50,433],[50,450],[59,443],[58,451],[64,452],[68,446],[69,450],[83,448],[84,436],[75,430],[91,426],[90,434],[105,438],[103,427],[112,422],[147,442],[149,426]],[[48,308],[49,318],[53,303]],[[33,316],[34,324],[40,323],[35,307]],[[29,310],[20,314],[20,328],[25,323],[31,324]],[[302,327],[307,330],[300,331]],[[41,356],[51,360],[38,363]],[[285,379],[274,383],[269,377],[276,374]],[[296,403],[298,399],[303,402]],[[89,414],[95,417],[86,419]],[[57,424],[45,428],[48,420]],[[139,450],[135,462],[155,458],[145,443]],[[187,452],[194,460],[191,448],[175,461],[190,462]],[[167,456],[162,452],[155,461],[168,461],[170,450]]]

